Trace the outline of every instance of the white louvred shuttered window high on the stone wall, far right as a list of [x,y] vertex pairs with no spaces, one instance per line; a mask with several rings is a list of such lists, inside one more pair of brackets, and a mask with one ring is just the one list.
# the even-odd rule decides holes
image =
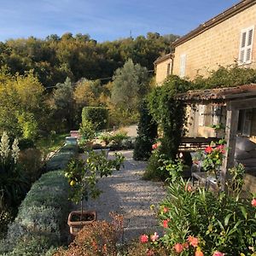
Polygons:
[[254,26],[241,31],[239,64],[249,64],[252,61]]

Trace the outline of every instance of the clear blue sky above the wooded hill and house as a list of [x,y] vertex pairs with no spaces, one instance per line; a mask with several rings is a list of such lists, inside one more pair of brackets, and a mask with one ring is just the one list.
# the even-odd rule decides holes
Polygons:
[[99,42],[147,32],[184,35],[239,0],[0,0],[0,41],[64,32]]

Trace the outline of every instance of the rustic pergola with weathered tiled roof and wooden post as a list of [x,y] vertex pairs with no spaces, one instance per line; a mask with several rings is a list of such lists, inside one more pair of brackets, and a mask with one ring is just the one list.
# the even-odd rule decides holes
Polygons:
[[225,140],[229,150],[226,150],[221,171],[221,183],[224,189],[227,170],[234,165],[239,110],[256,108],[256,84],[211,90],[189,90],[178,94],[177,99],[187,105],[212,103],[226,106]]

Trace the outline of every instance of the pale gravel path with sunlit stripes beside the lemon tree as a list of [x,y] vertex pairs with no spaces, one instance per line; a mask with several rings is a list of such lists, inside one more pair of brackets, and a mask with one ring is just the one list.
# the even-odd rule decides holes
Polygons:
[[[103,191],[96,200],[84,202],[87,210],[96,210],[99,220],[110,220],[109,212],[124,216],[125,241],[146,233],[160,232],[154,212],[155,206],[164,199],[166,192],[162,183],[142,179],[146,162],[132,160],[132,151],[120,151],[125,155],[125,168],[102,177],[98,186]],[[111,154],[109,153],[110,157]]]

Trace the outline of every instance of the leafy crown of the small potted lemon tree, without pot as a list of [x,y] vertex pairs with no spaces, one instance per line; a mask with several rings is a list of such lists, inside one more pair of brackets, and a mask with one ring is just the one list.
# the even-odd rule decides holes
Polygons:
[[90,151],[86,161],[71,160],[65,171],[70,184],[69,199],[79,203],[89,197],[96,198],[101,193],[101,190],[96,188],[98,178],[108,177],[113,173],[113,168],[119,170],[124,160],[125,157],[119,153],[114,154],[113,160],[108,160],[104,150],[99,154]]

